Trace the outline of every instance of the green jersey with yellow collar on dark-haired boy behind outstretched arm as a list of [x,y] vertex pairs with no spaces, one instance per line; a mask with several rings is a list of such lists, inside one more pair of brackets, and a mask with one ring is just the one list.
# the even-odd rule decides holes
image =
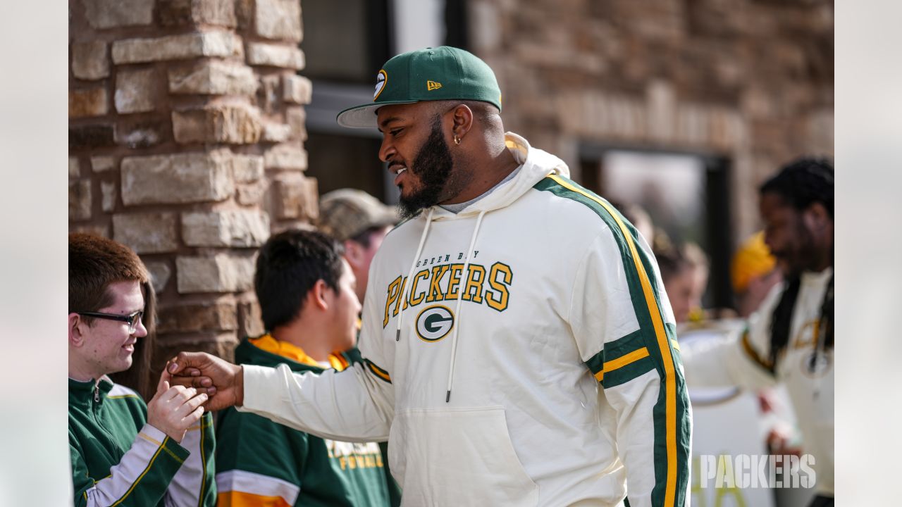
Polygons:
[[[329,365],[340,371],[354,359],[359,355],[331,355]],[[298,346],[270,335],[244,339],[235,348],[235,362],[288,364],[299,373],[326,370]],[[216,432],[220,506],[398,504],[400,492],[376,443],[318,438],[234,408],[222,412]]]

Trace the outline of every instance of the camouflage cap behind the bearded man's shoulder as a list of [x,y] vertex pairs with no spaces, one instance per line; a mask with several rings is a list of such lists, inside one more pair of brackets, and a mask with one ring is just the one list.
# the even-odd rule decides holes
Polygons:
[[319,230],[338,241],[351,239],[371,227],[394,226],[398,212],[358,189],[333,190],[319,198]]

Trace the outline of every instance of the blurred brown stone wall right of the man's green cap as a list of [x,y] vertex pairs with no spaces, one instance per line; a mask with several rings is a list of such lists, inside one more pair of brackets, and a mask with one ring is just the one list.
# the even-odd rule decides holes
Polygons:
[[471,0],[469,14],[506,127],[576,172],[580,143],[727,157],[734,242],[759,226],[761,180],[833,153],[830,0]]

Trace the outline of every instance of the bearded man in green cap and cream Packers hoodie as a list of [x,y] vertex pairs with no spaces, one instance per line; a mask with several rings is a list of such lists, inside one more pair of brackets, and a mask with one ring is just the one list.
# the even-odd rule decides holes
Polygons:
[[390,437],[405,505],[685,505],[691,410],[649,244],[505,134],[501,97],[482,60],[427,48],[338,115],[382,132],[406,218],[373,259],[365,364],[315,376],[182,353],[170,372],[214,409]]

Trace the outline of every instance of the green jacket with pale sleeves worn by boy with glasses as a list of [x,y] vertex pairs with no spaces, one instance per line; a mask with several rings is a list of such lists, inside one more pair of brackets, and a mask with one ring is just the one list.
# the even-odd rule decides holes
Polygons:
[[75,505],[214,505],[212,422],[204,414],[179,445],[147,424],[137,392],[106,376],[97,383],[69,379]]

